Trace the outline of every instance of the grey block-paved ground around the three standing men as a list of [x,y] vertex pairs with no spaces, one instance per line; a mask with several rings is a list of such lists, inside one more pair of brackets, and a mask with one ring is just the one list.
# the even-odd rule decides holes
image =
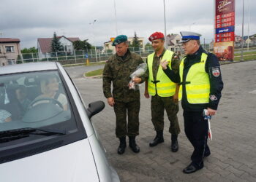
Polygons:
[[217,116],[211,119],[213,141],[208,141],[211,156],[205,159],[202,170],[189,175],[182,173],[189,165],[192,146],[184,134],[181,107],[178,152],[170,151],[166,114],[165,143],[149,147],[148,142],[155,132],[150,100],[144,98],[142,84],[140,135],[137,138],[140,153],[135,154],[128,147],[123,155],[118,155],[115,115],[102,94],[102,79],[77,78],[74,81],[87,104],[95,100],[106,103],[105,109],[94,116],[92,122],[121,181],[256,181],[256,61],[224,65],[222,78],[225,83],[222,99]]

